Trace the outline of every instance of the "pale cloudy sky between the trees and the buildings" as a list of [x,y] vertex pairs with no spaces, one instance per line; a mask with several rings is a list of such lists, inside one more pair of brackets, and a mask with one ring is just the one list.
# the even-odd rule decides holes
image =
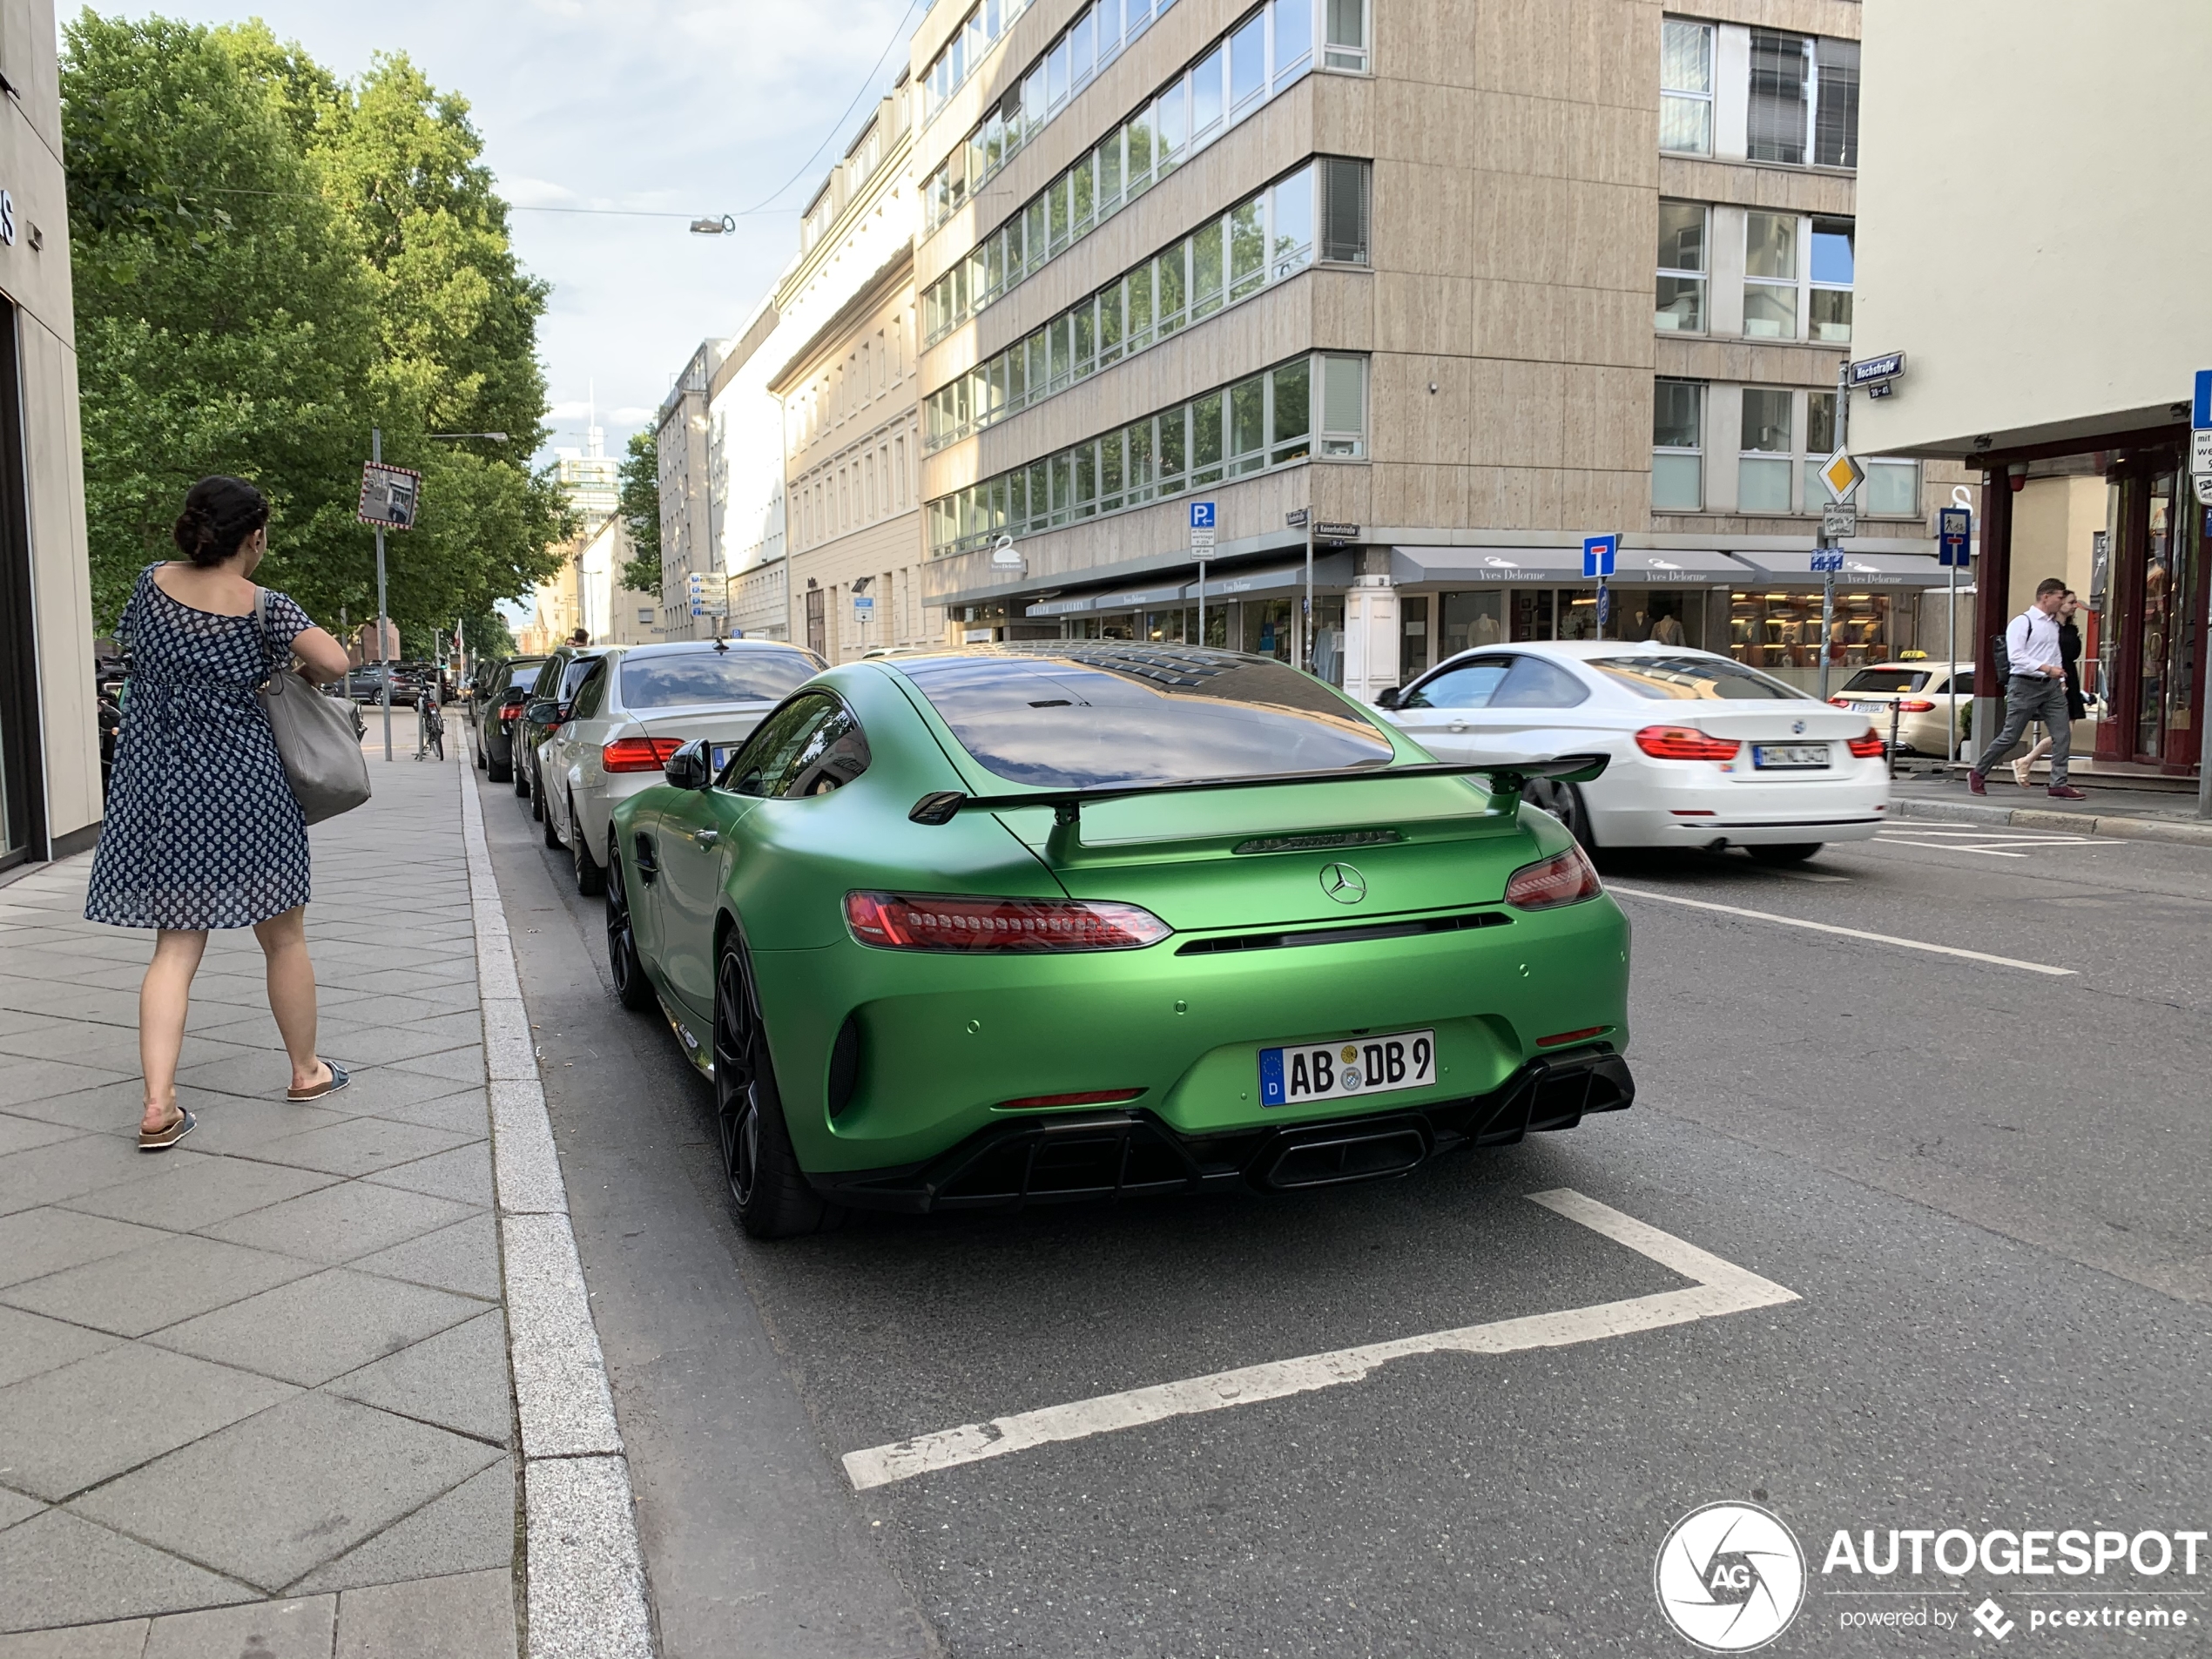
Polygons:
[[[124,11],[192,22],[257,15],[347,77],[380,51],[405,51],[440,91],[467,97],[484,164],[518,208],[515,254],[553,285],[538,327],[553,445],[582,445],[597,400],[606,449],[619,453],[699,341],[732,334],[776,281],[799,246],[799,208],[889,91],[922,7],[166,0]],[[66,0],[60,13],[73,15]],[[688,230],[692,217],[770,199],[779,210],[741,217],[737,234]]]

